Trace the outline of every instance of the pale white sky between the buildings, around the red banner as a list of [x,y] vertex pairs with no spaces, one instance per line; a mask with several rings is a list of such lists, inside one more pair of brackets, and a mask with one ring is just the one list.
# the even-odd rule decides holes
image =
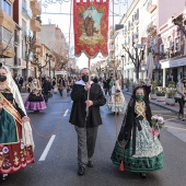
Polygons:
[[[71,11],[71,1],[72,0],[40,0],[42,2],[42,24],[56,24],[58,25],[67,42],[70,42],[70,47],[73,47],[73,18],[70,18]],[[118,24],[124,13],[131,4],[132,0],[114,0],[114,24]],[[113,25],[113,1],[111,0],[109,5],[109,25]],[[72,11],[71,11],[72,13]],[[71,19],[71,21],[70,21]],[[70,24],[71,23],[71,24]],[[69,40],[69,31],[70,31],[70,40]],[[102,58],[102,55],[98,54],[96,58],[91,59],[91,62],[96,62]],[[88,67],[88,57],[82,54],[81,57],[77,58],[77,65],[79,68]]]

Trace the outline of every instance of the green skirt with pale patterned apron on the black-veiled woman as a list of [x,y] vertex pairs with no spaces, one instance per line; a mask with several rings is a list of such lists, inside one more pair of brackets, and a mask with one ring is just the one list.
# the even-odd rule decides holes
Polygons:
[[[137,129],[136,153],[132,155],[132,138],[129,148],[124,151],[125,141],[116,142],[112,160],[116,165],[124,162],[125,168],[131,172],[153,172],[163,167],[163,148],[158,138],[150,132],[148,120],[141,121],[142,130]],[[132,133],[131,133],[132,137]]]

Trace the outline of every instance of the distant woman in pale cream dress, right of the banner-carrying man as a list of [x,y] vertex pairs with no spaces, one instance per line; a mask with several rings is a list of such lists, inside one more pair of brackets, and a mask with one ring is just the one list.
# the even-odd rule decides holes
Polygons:
[[108,98],[107,107],[108,109],[114,112],[114,114],[117,114],[117,115],[120,112],[124,112],[126,108],[126,101],[121,92],[118,80],[114,82],[114,85],[112,88],[112,95]]

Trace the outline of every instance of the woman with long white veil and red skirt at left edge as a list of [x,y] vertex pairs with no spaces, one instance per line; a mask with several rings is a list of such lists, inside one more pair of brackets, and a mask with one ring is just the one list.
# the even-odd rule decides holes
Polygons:
[[34,163],[34,141],[20,91],[0,65],[0,183],[8,174]]

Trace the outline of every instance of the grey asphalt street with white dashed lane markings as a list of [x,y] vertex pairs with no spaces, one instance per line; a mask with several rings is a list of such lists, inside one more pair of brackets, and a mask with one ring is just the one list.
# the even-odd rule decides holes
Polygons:
[[[128,101],[130,95],[125,94]],[[161,131],[164,148],[164,168],[149,173],[146,179],[138,174],[119,172],[111,161],[111,154],[120,129],[124,115],[114,116],[102,107],[103,125],[100,127],[94,155],[94,167],[84,176],[77,174],[77,133],[69,120],[71,100],[55,94],[48,108],[32,119],[35,140],[35,163],[10,175],[4,186],[185,186],[186,121],[177,120],[174,113],[151,104],[153,114],[162,115],[167,128]],[[39,135],[38,135],[39,133]],[[50,137],[50,135],[53,135]],[[47,137],[48,136],[48,137]],[[46,138],[47,137],[47,138]],[[49,144],[50,148],[49,148]],[[45,151],[48,147],[49,151]]]

